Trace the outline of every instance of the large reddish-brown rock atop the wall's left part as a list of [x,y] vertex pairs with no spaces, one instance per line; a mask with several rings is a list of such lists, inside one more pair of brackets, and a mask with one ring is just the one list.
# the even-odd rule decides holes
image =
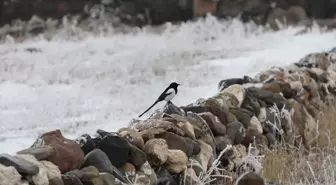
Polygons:
[[54,163],[62,173],[77,169],[84,162],[84,153],[79,144],[65,138],[60,130],[42,134],[32,147],[49,145],[53,153],[47,158]]

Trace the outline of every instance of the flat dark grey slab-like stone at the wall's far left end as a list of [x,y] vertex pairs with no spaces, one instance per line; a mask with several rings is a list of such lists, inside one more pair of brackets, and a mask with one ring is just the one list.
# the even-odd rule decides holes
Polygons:
[[21,175],[36,175],[39,172],[39,168],[35,164],[9,154],[0,154],[0,164],[13,166]]

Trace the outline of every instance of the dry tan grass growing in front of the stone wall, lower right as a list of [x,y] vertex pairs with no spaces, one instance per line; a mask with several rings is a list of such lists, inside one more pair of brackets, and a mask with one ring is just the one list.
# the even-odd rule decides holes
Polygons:
[[328,107],[318,118],[317,146],[307,152],[303,146],[265,149],[263,176],[281,185],[336,184],[336,108]]

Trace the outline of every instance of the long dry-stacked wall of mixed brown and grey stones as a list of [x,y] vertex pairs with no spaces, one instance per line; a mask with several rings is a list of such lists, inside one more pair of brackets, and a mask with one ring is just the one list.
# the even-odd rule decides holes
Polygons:
[[316,146],[319,113],[335,103],[334,51],[254,78],[222,80],[213,97],[167,104],[117,132],[97,130],[75,141],[60,130],[44,133],[16,156],[0,155],[0,182],[226,185],[239,177],[265,183],[259,175],[263,148]]

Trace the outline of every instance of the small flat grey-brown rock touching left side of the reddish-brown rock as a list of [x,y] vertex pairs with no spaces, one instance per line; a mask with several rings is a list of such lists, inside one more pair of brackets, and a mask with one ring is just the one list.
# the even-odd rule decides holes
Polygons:
[[49,145],[28,148],[17,152],[17,154],[30,154],[37,160],[47,159],[53,153],[53,148]]

